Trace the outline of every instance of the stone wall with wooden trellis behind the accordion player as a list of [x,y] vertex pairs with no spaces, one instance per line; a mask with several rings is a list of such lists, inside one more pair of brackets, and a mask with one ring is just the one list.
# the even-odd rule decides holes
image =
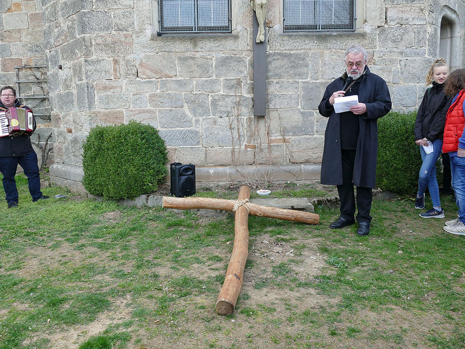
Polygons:
[[[44,51],[44,31],[41,0],[0,1],[0,86],[13,86],[21,102],[33,109],[37,130],[32,143],[42,163],[42,157],[53,147],[51,143],[50,105],[47,98],[32,98],[48,95],[47,67]],[[17,83],[18,77],[21,83]],[[30,68],[29,66],[38,66]],[[27,81],[27,82],[23,82]],[[48,138],[48,144],[45,141]],[[48,156],[49,164],[53,157]]]

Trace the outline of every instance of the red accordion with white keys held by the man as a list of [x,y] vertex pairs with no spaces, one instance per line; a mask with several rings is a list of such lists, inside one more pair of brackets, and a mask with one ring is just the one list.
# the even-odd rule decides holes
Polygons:
[[0,112],[0,137],[34,132],[34,115],[27,108],[12,107]]

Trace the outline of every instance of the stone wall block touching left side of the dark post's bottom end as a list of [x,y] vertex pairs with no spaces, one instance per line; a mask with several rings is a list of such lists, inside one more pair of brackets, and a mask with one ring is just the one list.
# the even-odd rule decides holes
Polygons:
[[211,96],[213,116],[245,117],[252,114],[252,98],[248,96],[216,94]]

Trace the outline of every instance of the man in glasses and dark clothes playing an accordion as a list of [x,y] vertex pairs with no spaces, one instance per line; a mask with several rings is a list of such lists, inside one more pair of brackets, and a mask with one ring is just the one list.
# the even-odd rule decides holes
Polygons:
[[[0,112],[4,112],[11,107],[28,108],[21,105],[16,99],[16,90],[13,87],[4,86],[0,89]],[[35,120],[33,125],[35,130]],[[29,134],[0,137],[0,172],[3,174],[3,188],[8,208],[18,206],[18,189],[15,181],[18,164],[23,168],[24,174],[28,178],[32,201],[48,199],[48,196],[42,195],[42,191],[40,191],[37,154],[32,148]]]

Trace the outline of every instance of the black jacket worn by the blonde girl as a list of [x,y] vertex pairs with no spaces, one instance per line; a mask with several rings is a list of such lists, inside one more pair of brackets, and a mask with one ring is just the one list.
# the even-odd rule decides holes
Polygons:
[[425,91],[415,119],[415,140],[442,139],[445,116],[453,98],[442,91],[443,87],[443,84],[433,82],[433,86]]

